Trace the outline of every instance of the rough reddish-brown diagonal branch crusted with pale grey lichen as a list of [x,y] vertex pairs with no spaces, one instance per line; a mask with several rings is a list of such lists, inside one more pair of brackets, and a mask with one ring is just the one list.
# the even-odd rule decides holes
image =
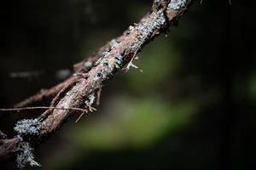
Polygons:
[[[137,67],[132,64],[137,53],[154,37],[166,32],[169,26],[175,24],[177,18],[183,15],[192,1],[154,0],[151,13],[144,16],[138,24],[130,26],[122,36],[108,42],[89,59],[84,59],[74,65],[76,74],[74,77],[49,88],[44,94],[36,94],[16,105],[21,107],[40,99],[55,96],[50,106],[65,110],[51,108],[37,119],[18,122],[15,127],[18,135],[15,138],[0,139],[0,157],[17,152],[16,147],[20,147],[19,142],[24,143],[24,140],[32,142],[31,139],[33,139],[40,143],[44,137],[55,133],[63,122],[73,115],[74,111],[68,110],[68,108],[84,108],[87,111],[93,111],[91,105],[96,99],[97,91],[101,90],[103,82],[113,77],[114,73],[123,69],[127,64],[126,69],[132,66]],[[18,151],[20,150],[22,151],[22,148]],[[25,163],[36,164],[33,161],[25,161]]]

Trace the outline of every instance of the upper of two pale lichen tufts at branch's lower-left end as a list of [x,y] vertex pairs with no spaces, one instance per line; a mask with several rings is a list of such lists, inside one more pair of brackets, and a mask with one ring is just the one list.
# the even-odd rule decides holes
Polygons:
[[22,135],[38,134],[41,124],[38,119],[23,119],[16,123],[14,129],[15,132]]

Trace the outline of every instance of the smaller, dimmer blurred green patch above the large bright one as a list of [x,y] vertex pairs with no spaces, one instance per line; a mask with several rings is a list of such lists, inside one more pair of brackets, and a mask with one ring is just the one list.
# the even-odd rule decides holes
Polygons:
[[154,42],[150,42],[136,65],[141,67],[143,73],[131,70],[127,77],[127,83],[135,91],[150,91],[165,83],[168,77],[177,74],[180,68],[181,56],[177,49],[173,48],[171,38],[160,36]]

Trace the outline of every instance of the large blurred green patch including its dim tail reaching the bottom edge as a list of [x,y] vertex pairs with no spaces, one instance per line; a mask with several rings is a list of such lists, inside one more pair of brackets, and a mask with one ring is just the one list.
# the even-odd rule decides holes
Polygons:
[[95,152],[150,150],[187,127],[198,109],[191,100],[170,105],[160,99],[119,96],[110,102],[113,107],[103,116],[79,123],[65,134],[70,146],[51,157],[45,169],[69,167]]

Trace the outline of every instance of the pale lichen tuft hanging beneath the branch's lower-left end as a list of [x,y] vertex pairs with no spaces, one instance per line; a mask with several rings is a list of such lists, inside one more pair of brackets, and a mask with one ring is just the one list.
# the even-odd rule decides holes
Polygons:
[[24,142],[20,136],[18,137],[20,138],[20,142],[17,144],[16,150],[15,150],[17,154],[17,158],[16,158],[17,167],[23,168],[26,165],[30,165],[31,167],[40,167],[41,165],[34,160],[34,155],[32,153],[33,149],[30,146],[30,144],[28,144],[27,142]]

